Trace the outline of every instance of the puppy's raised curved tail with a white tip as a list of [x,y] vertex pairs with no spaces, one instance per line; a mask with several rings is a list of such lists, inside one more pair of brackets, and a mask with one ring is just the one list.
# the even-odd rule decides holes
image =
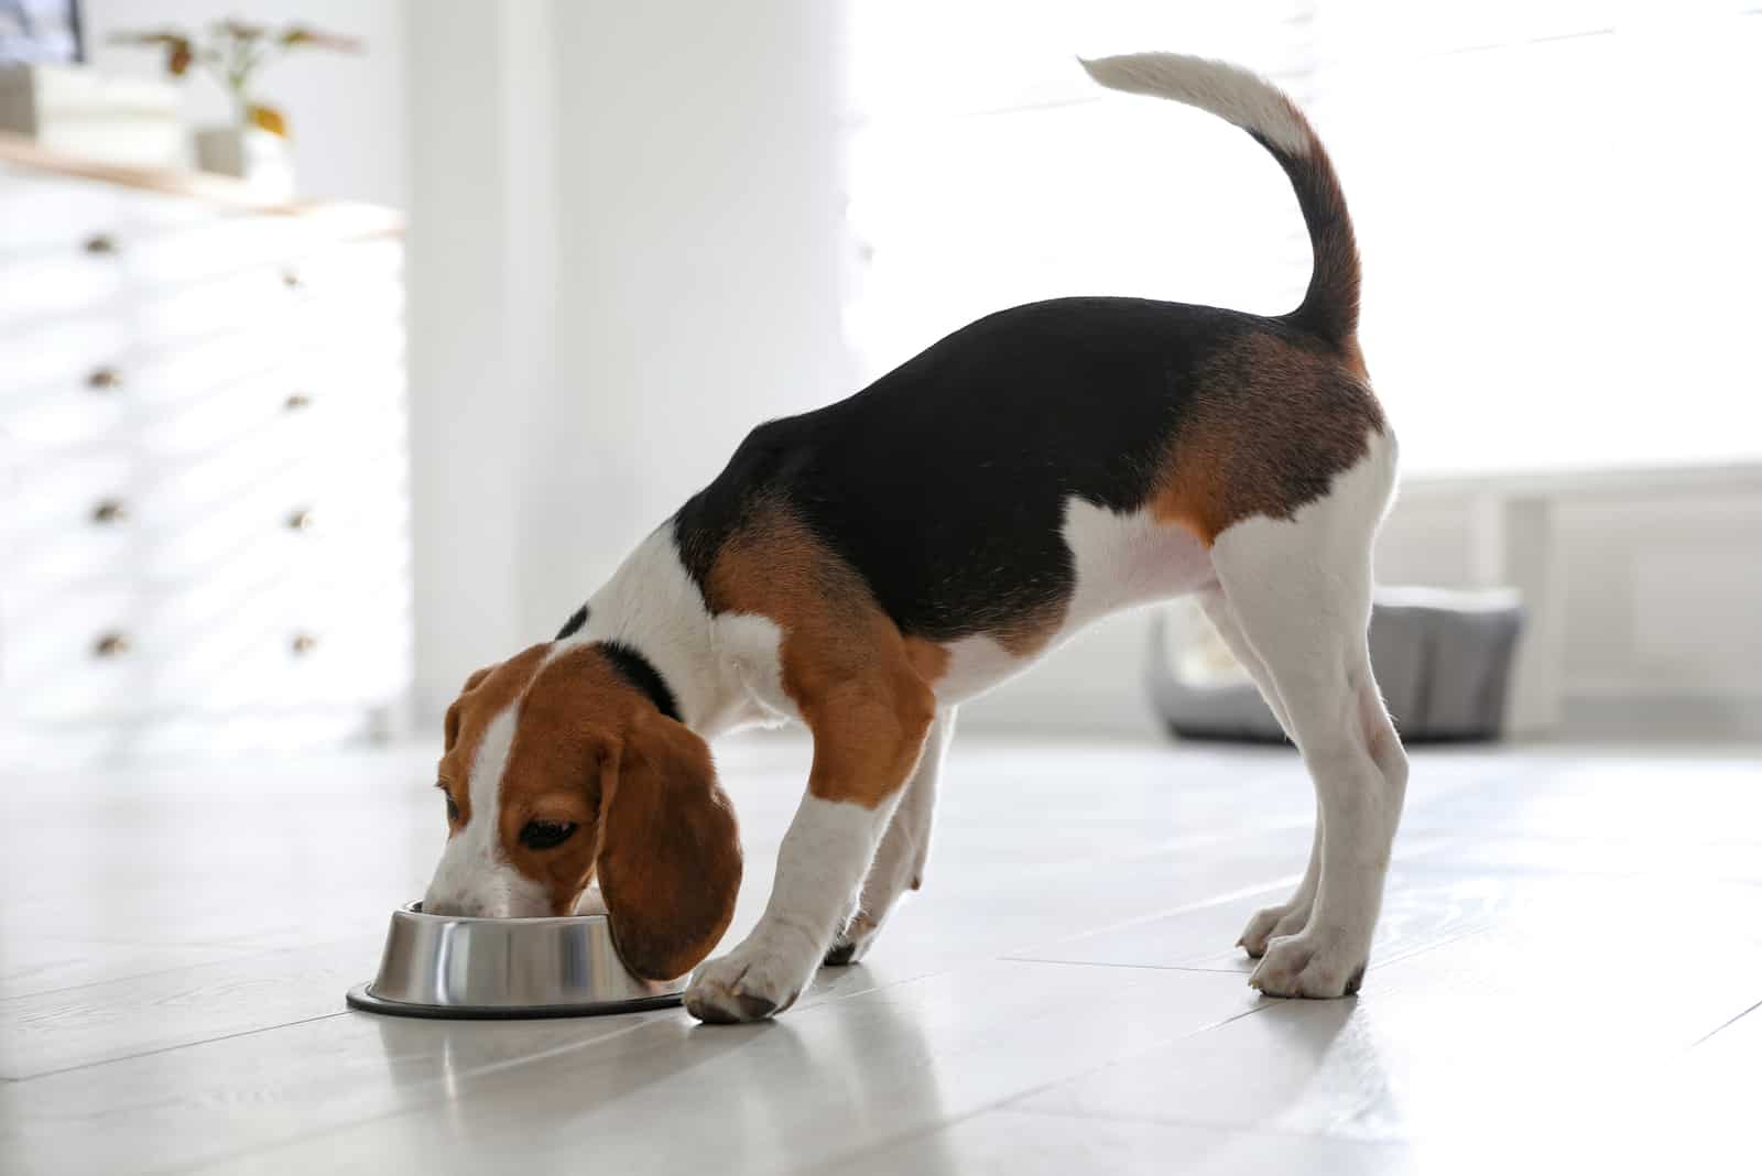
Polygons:
[[1272,151],[1297,188],[1297,206],[1309,225],[1314,254],[1309,290],[1290,319],[1336,347],[1346,345],[1359,329],[1359,243],[1334,164],[1297,104],[1246,69],[1200,56],[1131,53],[1084,60],[1082,65],[1110,90],[1149,93],[1210,111]]

